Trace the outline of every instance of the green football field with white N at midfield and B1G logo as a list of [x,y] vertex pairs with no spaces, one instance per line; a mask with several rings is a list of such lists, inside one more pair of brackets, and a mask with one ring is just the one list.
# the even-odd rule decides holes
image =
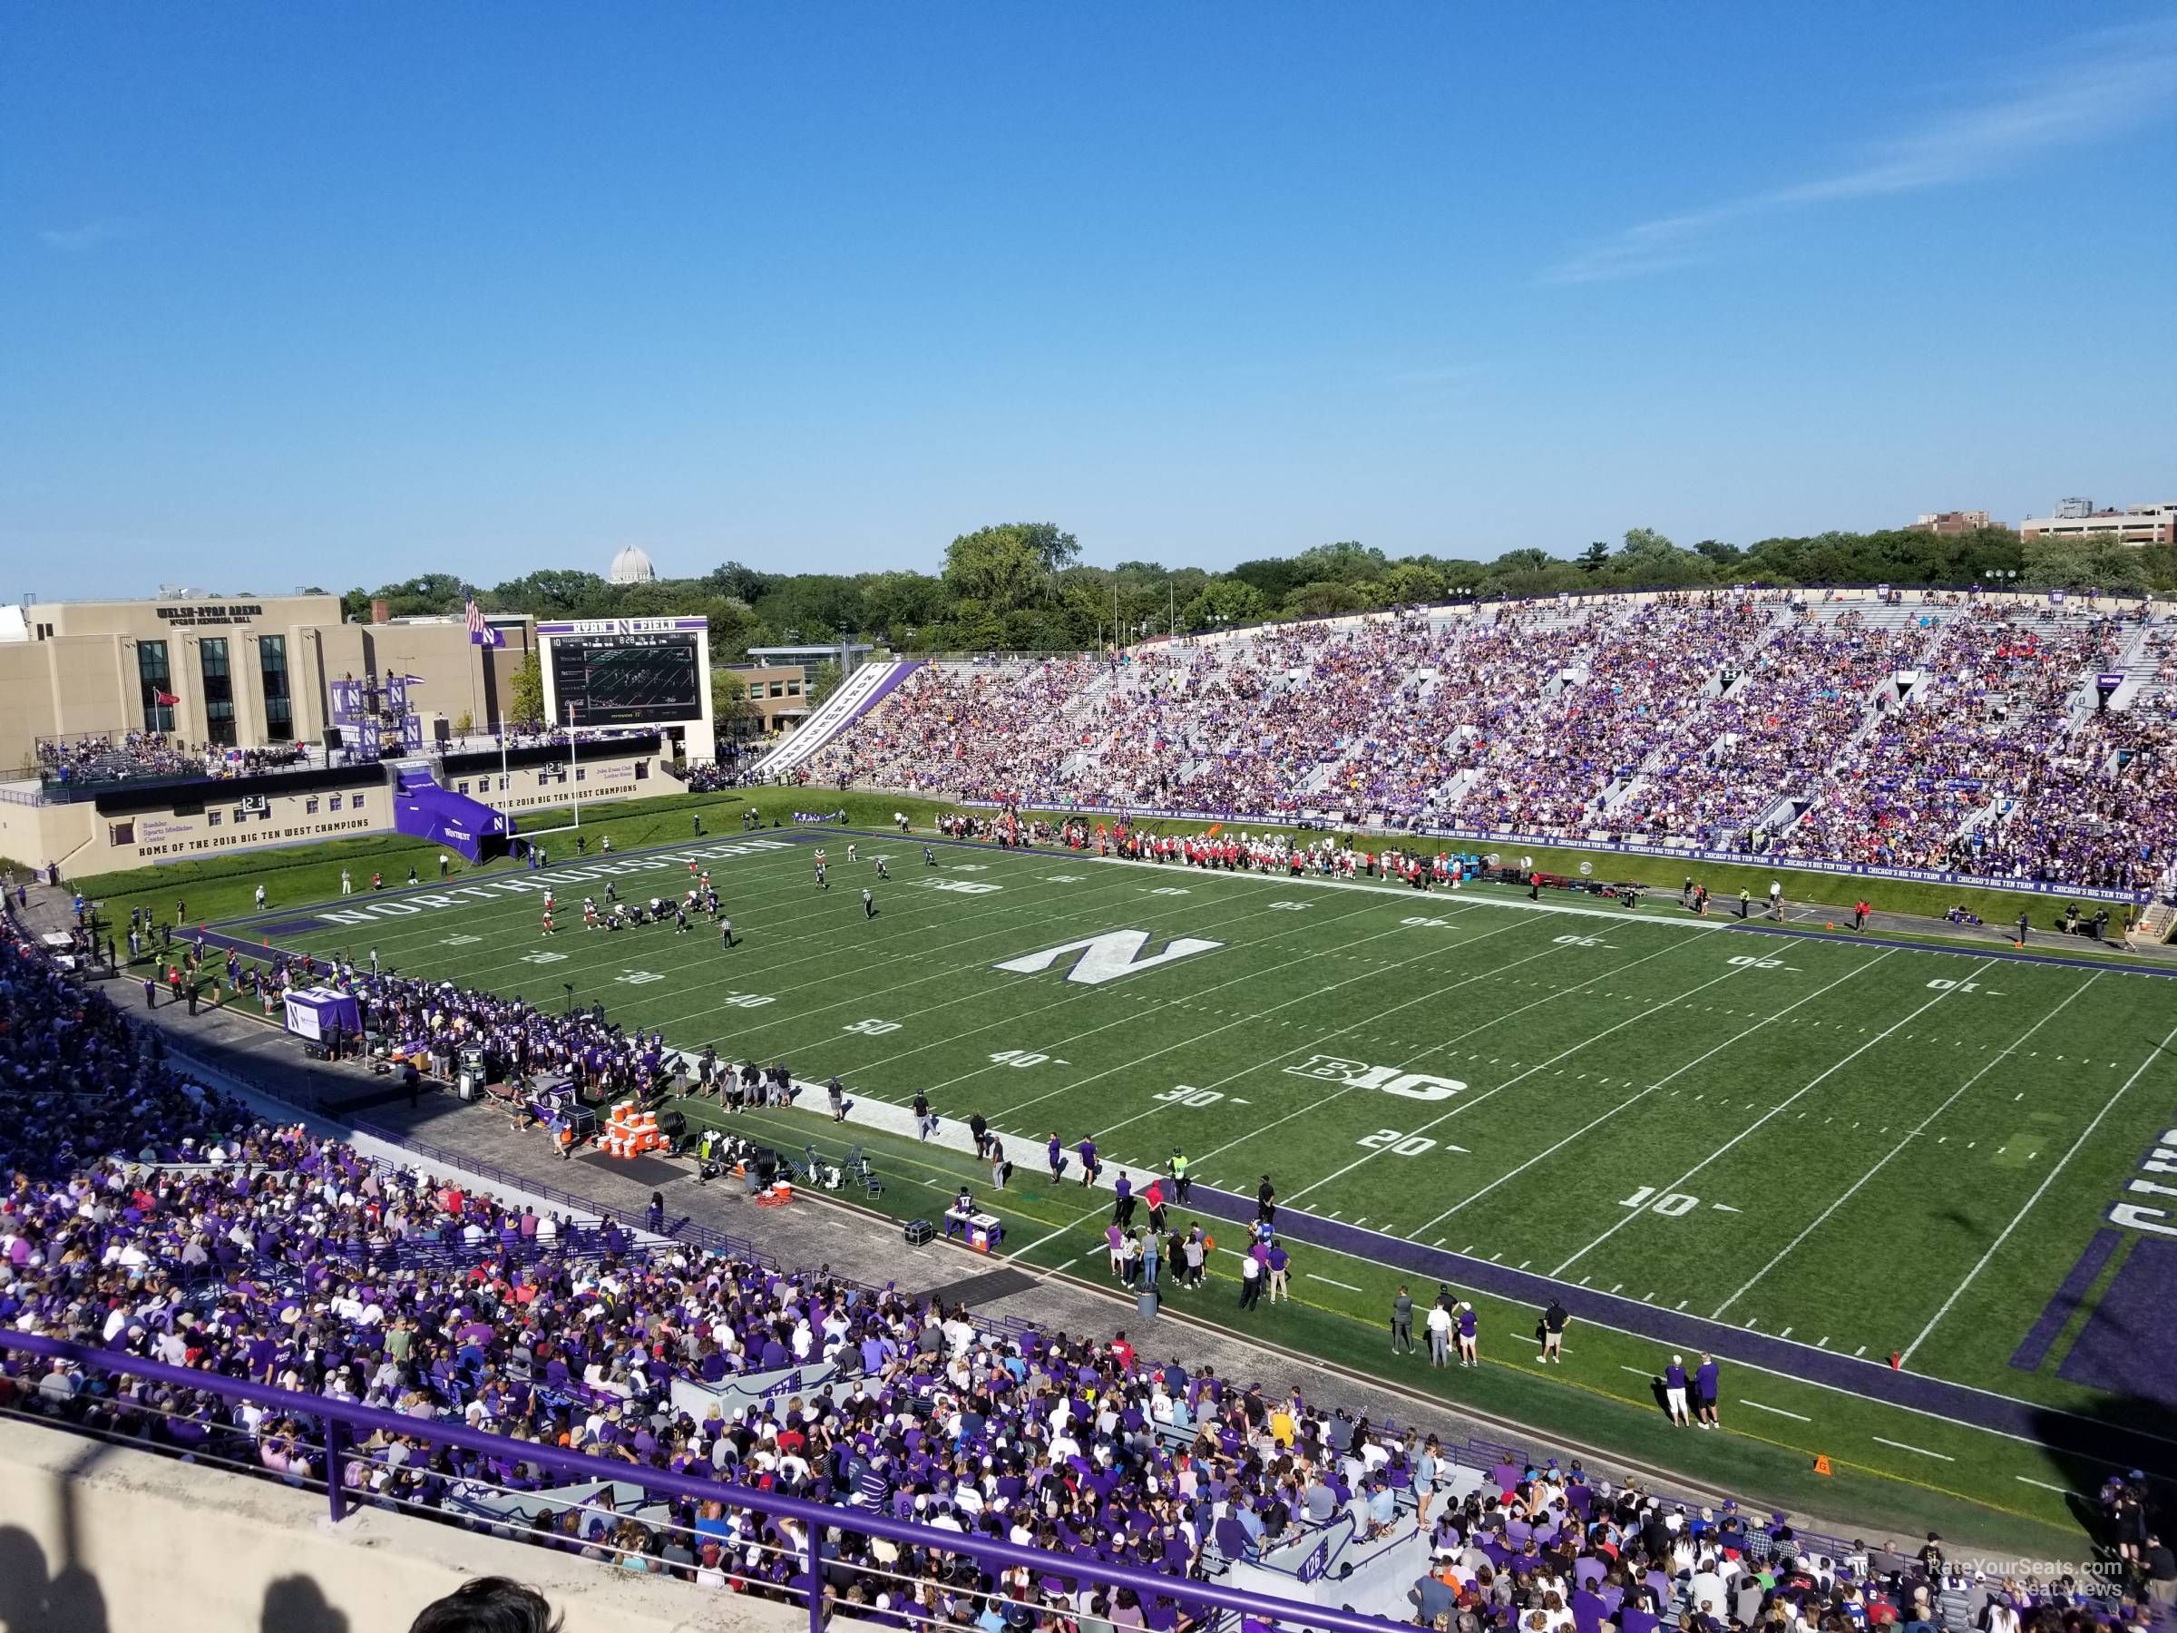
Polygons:
[[[923,1091],[982,1113],[1017,1184],[1051,1195],[1051,1134],[1130,1171],[1184,1150],[1226,1191],[1267,1174],[1287,1217],[1356,1228],[1363,1258],[1419,1243],[1811,1354],[1896,1354],[2068,1411],[2123,1402],[2166,1433],[2155,1324],[2177,1237],[2153,1204],[2177,982],[1763,932],[1657,897],[934,856],[777,830],[226,930],[377,949],[546,1008],[573,989],[684,1049],[838,1076],[858,1100]],[[701,919],[583,930],[607,877],[623,901],[671,899],[690,860],[740,945]],[[901,1171],[917,1161],[903,1147]],[[973,1169],[943,1184],[956,1171]],[[1093,1226],[1069,1248],[1093,1252]]]

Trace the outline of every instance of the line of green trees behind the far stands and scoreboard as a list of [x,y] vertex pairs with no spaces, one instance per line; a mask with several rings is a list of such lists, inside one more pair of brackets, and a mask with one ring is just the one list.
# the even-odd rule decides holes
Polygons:
[[[871,640],[895,651],[1084,651],[1167,631],[1200,634],[1271,618],[1326,618],[1465,597],[1561,590],[1681,590],[1766,584],[1933,584],[2066,588],[2140,594],[2177,590],[2177,549],[2025,542],[2007,527],[1968,533],[1892,529],[1681,547],[1650,527],[1576,555],[1517,549],[1491,562],[1385,555],[1341,540],[1265,555],[1226,573],[1160,562],[1084,566],[1080,542],[1054,523],[1004,523],[962,533],[938,573],[758,573],[740,562],[692,579],[610,584],[596,573],[544,568],[477,590],[485,612],[536,618],[705,616],[716,662],[749,647]],[[385,599],[394,616],[459,612],[457,577],[427,573],[342,597],[355,618]]]

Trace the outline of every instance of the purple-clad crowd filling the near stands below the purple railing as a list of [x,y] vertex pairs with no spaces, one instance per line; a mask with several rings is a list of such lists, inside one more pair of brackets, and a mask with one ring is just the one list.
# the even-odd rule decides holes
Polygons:
[[[392,980],[372,991],[405,1019],[442,1002]],[[318,1420],[226,1402],[211,1378],[464,1422],[505,1450],[372,1435],[344,1459],[350,1498],[512,1526],[616,1570],[779,1598],[812,1587],[797,1522],[655,1491],[555,1496],[544,1450],[625,1463],[638,1489],[644,1470],[671,1470],[834,1505],[821,1592],[903,1629],[1189,1626],[1171,1600],[1110,1592],[1099,1568],[1210,1574],[1345,1515],[1354,1535],[1426,1535],[1415,1620],[1461,1633],[1655,1633],[1678,1616],[1779,1633],[1964,1629],[1983,1603],[2049,1633],[2142,1620],[2068,1581],[1968,1583],[1933,1539],[1918,1568],[1887,1574],[1857,1546],[1822,1557],[1781,1518],[1670,1502],[1578,1463],[1461,1474],[1430,1435],[1158,1361],[1123,1333],[995,1333],[827,1267],[638,1241],[610,1219],[583,1230],[377,1163],[172,1071],[152,1032],[13,919],[0,919],[0,1322],[207,1376],[165,1387],[11,1352],[0,1409],[287,1483],[324,1476]],[[790,1365],[834,1365],[838,1380],[734,1409],[673,1391]],[[2118,1483],[2105,1498],[2142,1579],[2166,1592],[2177,1566],[2136,1494]],[[1041,1546],[1073,1568],[984,1572],[943,1546],[858,1533],[858,1509]]]

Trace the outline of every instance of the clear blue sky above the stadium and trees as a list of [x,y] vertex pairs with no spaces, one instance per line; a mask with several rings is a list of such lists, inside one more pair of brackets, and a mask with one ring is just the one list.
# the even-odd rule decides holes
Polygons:
[[2177,9],[20,4],[0,599],[2177,496]]

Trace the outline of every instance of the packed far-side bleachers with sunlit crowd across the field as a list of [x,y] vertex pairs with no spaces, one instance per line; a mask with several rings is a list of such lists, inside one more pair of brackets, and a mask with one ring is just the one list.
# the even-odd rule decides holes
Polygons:
[[[2094,675],[2136,675],[2101,712]],[[2170,623],[2025,597],[1594,597],[927,664],[801,771],[995,799],[2177,882]]]

